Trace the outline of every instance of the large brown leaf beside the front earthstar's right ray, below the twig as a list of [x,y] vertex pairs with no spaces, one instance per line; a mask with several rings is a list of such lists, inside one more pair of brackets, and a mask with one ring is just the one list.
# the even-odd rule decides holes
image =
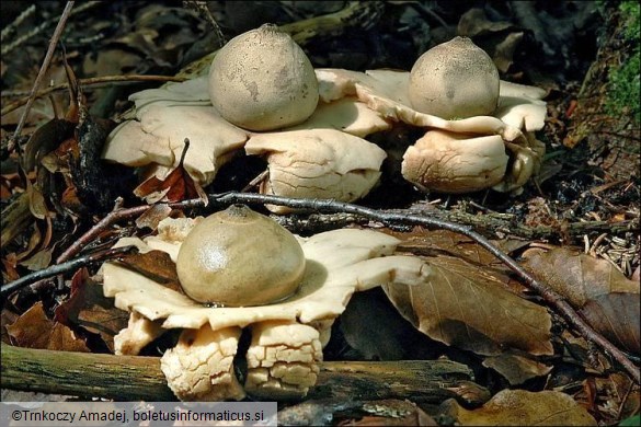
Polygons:
[[431,338],[480,355],[516,348],[551,355],[547,310],[506,290],[490,269],[449,256],[430,259],[433,277],[416,286],[388,286],[397,310]]

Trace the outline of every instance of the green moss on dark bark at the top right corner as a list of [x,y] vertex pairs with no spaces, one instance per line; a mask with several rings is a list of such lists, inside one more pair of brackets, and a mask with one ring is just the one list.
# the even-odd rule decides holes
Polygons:
[[638,1],[625,1],[619,4],[619,13],[622,20],[621,35],[630,54],[623,57],[620,65],[611,66],[608,78],[608,99],[606,112],[609,115],[629,115],[639,125],[641,123],[641,105],[639,96],[641,82],[639,78],[641,60],[639,48],[639,16],[640,5]]

